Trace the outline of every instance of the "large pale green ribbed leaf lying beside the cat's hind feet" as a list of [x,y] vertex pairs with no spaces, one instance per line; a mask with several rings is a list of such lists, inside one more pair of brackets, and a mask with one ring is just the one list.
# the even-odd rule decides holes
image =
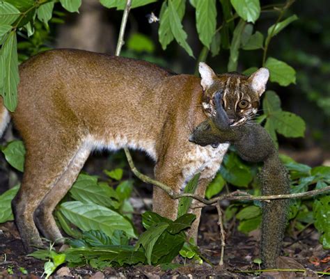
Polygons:
[[77,225],[80,230],[102,230],[109,237],[115,230],[123,230],[128,236],[136,237],[132,224],[107,207],[74,201],[63,202],[60,210],[65,218]]

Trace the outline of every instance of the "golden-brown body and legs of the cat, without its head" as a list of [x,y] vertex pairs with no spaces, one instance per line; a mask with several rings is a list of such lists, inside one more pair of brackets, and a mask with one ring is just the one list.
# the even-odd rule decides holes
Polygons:
[[[92,150],[145,150],[155,160],[156,179],[174,191],[201,171],[197,192],[203,195],[228,148],[188,141],[192,127],[206,118],[197,77],[70,49],[38,54],[20,66],[19,74],[19,102],[11,116],[26,146],[26,161],[13,209],[27,250],[42,244],[38,230],[52,241],[62,237],[52,211]],[[0,115],[4,111],[0,104]],[[177,202],[155,189],[155,212],[175,218]],[[196,238],[201,210],[193,213]]]

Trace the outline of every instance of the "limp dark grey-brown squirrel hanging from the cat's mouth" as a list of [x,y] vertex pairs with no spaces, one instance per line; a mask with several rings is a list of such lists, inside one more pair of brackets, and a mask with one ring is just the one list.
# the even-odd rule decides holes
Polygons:
[[[231,143],[245,161],[263,162],[258,173],[262,195],[290,193],[288,170],[278,157],[278,151],[268,132],[256,123],[233,127],[221,105],[222,91],[214,95],[217,113],[194,129],[189,141],[201,146]],[[288,222],[288,200],[262,202],[260,255],[265,268],[276,267]]]

